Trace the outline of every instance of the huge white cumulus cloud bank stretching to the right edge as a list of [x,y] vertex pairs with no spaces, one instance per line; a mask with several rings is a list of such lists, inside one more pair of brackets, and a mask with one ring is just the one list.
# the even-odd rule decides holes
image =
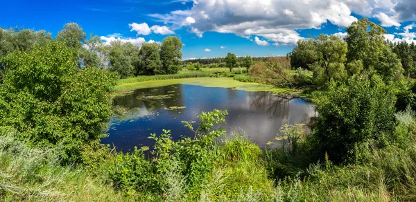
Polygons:
[[233,33],[275,45],[295,44],[304,39],[300,30],[320,29],[328,21],[347,27],[357,20],[353,13],[376,17],[385,27],[399,28],[402,22],[416,19],[414,0],[193,0],[189,6],[150,17],[175,28],[186,26],[198,37],[209,31]]

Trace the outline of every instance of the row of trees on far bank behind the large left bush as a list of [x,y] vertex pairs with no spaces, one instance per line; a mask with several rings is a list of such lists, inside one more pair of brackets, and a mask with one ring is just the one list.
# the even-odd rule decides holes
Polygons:
[[[100,37],[89,35],[76,23],[65,24],[57,37],[45,30],[0,28],[0,57],[16,50],[28,51],[34,46],[58,41],[78,54],[78,68],[98,67],[113,71],[121,78],[131,75],[172,74],[180,70],[182,42],[177,37],[166,37],[162,43],[144,43],[141,47],[119,40],[104,44]],[[0,75],[6,66],[0,64]]]

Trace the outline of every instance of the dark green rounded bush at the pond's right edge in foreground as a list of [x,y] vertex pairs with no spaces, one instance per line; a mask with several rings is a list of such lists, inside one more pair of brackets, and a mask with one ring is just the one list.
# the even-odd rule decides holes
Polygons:
[[331,85],[315,102],[319,113],[315,136],[322,152],[335,162],[352,158],[357,145],[374,140],[382,146],[394,141],[395,96],[373,79]]

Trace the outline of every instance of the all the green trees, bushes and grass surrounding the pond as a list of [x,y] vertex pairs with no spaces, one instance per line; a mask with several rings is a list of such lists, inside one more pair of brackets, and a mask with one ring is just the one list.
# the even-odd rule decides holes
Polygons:
[[[386,42],[365,18],[346,31],[301,39],[286,57],[182,61],[172,36],[139,47],[87,39],[74,23],[55,38],[0,28],[0,199],[416,201],[416,45]],[[192,137],[164,129],[126,154],[101,144],[114,92],[178,82],[304,91],[319,116],[308,134],[282,125],[270,143],[281,146],[264,152],[215,127],[223,109],[183,122]]]

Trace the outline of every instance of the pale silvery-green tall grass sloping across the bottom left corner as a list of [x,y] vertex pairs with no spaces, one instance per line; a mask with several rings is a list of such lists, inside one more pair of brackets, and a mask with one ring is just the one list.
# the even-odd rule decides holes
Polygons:
[[52,149],[32,149],[0,136],[0,199],[4,201],[134,201],[84,169],[62,167]]

